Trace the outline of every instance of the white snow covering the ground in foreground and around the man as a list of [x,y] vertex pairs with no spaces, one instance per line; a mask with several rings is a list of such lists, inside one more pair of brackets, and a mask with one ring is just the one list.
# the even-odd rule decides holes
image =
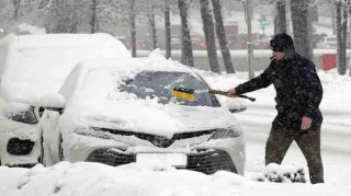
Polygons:
[[[218,90],[228,90],[247,80],[247,72],[205,72],[205,76]],[[140,163],[117,168],[87,162],[60,162],[49,168],[37,164],[32,169],[0,166],[1,196],[351,196],[351,78],[338,76],[335,71],[319,71],[319,77],[325,90],[321,103],[325,116],[321,132],[325,184],[312,185],[308,173],[306,184],[253,181],[262,177],[265,171],[264,145],[276,113],[275,92],[270,87],[248,93],[257,97],[257,102],[244,100],[248,109],[236,114],[247,138],[245,176],[225,171],[205,175],[168,165]],[[307,171],[306,161],[296,145],[291,147],[282,164],[292,163]]]

